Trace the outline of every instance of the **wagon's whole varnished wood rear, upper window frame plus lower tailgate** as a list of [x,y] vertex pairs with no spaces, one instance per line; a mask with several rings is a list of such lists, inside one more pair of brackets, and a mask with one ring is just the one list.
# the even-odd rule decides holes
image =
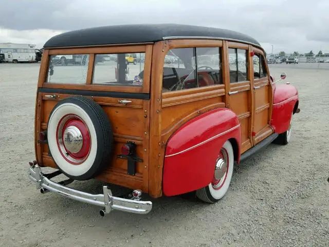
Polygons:
[[[92,48],[67,48],[45,50],[40,76],[39,87],[48,87],[53,89],[77,89],[90,91],[110,91],[110,92],[129,92],[129,93],[150,93],[150,74],[152,60],[152,45],[138,46],[114,46],[114,47],[92,47]],[[109,86],[93,85],[93,68],[96,54],[109,54],[120,52],[146,52],[144,62],[143,86]],[[89,54],[89,64],[86,84],[58,84],[45,83],[48,68],[48,55],[60,54]],[[54,95],[55,98],[48,98],[45,95]],[[72,94],[58,93],[38,93],[35,111],[35,139],[38,139],[39,132],[47,130],[50,113],[54,106],[62,99],[72,97]],[[132,189],[141,189],[149,192],[149,130],[150,130],[150,100],[130,99],[130,98],[112,98],[99,96],[86,96],[97,102],[112,123],[114,135],[114,154],[108,166],[98,175],[96,179],[122,185]],[[122,104],[119,100],[130,100],[129,104]],[[127,160],[117,158],[121,153],[121,146],[127,141],[134,142],[137,156],[142,158],[143,162],[136,163],[136,174],[127,174]],[[51,156],[49,156],[48,146],[35,142],[36,156],[41,166],[57,168]]]

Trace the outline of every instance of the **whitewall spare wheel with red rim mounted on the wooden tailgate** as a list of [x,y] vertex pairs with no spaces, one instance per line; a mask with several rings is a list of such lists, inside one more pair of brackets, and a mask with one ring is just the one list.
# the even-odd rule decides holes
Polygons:
[[47,139],[53,161],[71,179],[93,178],[111,161],[111,123],[100,105],[88,98],[69,97],[56,104]]

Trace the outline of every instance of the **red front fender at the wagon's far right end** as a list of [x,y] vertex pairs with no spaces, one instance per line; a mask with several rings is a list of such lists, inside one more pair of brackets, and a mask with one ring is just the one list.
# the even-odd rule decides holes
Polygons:
[[271,126],[276,133],[283,133],[289,128],[291,114],[298,101],[298,91],[295,86],[287,84],[276,86],[271,117]]

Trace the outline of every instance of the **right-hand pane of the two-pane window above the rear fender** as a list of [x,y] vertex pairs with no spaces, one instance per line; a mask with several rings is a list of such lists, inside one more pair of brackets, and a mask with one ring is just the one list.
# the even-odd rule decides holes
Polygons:
[[196,65],[198,87],[223,84],[221,48],[197,47]]

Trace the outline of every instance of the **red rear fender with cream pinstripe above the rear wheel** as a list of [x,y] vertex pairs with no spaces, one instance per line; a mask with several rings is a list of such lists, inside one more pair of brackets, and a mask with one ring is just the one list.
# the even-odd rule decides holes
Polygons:
[[[241,128],[235,113],[218,108],[184,123],[169,138],[163,167],[162,191],[174,196],[210,184],[218,154],[233,138],[235,159],[240,161]],[[233,141],[234,142],[234,141]],[[237,144],[237,145],[236,145]]]

